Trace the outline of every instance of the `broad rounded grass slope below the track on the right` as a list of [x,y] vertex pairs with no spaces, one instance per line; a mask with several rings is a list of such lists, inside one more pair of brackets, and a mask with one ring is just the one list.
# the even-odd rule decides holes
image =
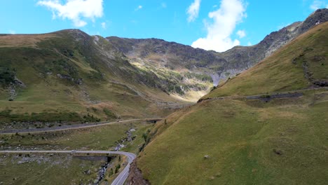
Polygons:
[[153,129],[138,166],[151,184],[325,184],[327,107],[327,91],[202,102]]

